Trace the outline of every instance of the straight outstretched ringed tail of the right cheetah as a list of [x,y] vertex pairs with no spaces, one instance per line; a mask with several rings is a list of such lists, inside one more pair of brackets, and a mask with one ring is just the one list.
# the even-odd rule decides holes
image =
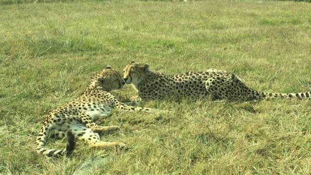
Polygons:
[[311,98],[311,92],[300,93],[266,93],[266,92],[254,92],[256,99],[262,98],[287,98],[287,99],[309,99]]

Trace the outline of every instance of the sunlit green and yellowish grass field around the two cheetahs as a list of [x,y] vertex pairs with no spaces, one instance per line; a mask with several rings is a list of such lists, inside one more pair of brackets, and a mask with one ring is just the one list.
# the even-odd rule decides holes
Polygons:
[[[54,158],[33,146],[45,115],[83,92],[93,72],[121,72],[131,60],[166,73],[228,70],[266,92],[310,91],[311,3],[0,2],[0,174],[311,174],[308,100],[143,102],[173,113],[115,110],[96,122],[121,125],[102,140],[130,151],[78,141],[71,156]],[[131,86],[114,94],[136,95]]]

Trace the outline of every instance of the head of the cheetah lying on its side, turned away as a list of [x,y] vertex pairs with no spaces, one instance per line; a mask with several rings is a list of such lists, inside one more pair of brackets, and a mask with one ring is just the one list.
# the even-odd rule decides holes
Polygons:
[[95,88],[102,88],[105,91],[112,91],[115,89],[123,88],[125,81],[121,77],[120,73],[117,70],[111,68],[111,66],[107,66],[101,72],[95,74],[90,82],[89,86]]

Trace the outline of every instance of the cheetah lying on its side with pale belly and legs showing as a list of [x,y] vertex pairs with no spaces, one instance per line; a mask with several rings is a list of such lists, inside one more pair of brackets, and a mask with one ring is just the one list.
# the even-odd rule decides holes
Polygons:
[[[104,142],[99,132],[120,129],[119,126],[99,126],[93,122],[95,117],[107,116],[113,108],[125,111],[153,111],[152,108],[141,108],[125,105],[110,93],[123,88],[125,82],[117,70],[107,66],[95,73],[86,91],[77,99],[52,110],[45,119],[44,125],[35,141],[36,151],[47,156],[62,156],[74,148],[74,140],[83,140],[91,148],[125,148],[122,142]],[[67,146],[64,150],[46,148],[49,136],[64,138],[67,135]]]

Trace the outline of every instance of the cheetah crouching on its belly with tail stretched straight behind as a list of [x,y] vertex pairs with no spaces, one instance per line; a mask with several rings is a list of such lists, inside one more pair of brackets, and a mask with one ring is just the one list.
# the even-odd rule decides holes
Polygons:
[[124,81],[132,84],[138,96],[132,98],[134,102],[140,100],[162,100],[164,98],[178,99],[187,97],[191,100],[259,100],[264,98],[310,98],[306,93],[266,93],[248,88],[233,73],[210,69],[201,72],[187,72],[178,75],[166,75],[149,70],[148,64],[132,61],[124,70]]

